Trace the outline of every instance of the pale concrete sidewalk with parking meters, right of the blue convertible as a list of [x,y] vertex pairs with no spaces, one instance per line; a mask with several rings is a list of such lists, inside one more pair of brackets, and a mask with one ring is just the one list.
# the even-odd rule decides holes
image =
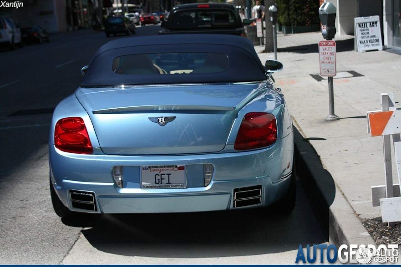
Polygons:
[[[375,244],[358,219],[381,216],[380,207],[372,207],[371,186],[385,184],[382,138],[367,133],[366,112],[381,109],[381,93],[394,92],[401,101],[401,55],[358,53],[353,36],[335,38],[334,107],[340,120],[326,121],[328,80],[319,75],[320,40],[320,32],[277,33],[277,60],[284,69],[273,76],[297,128],[300,179],[316,200],[331,243]],[[263,53],[264,47],[255,49],[262,63],[274,59],[274,53]],[[398,183],[394,164],[393,179]]]

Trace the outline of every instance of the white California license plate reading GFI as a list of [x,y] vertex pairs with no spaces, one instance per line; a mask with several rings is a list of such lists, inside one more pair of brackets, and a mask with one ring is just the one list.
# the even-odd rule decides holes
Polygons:
[[186,188],[185,166],[141,166],[141,188]]

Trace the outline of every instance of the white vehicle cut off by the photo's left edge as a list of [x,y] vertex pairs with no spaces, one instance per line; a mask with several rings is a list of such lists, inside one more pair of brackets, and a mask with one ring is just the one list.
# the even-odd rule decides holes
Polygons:
[[0,16],[0,47],[14,50],[17,44],[22,47],[21,32],[14,19]]

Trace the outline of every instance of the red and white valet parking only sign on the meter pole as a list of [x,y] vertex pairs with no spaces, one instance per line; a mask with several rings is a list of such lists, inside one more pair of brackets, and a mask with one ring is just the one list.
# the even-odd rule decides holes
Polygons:
[[321,76],[336,76],[336,42],[319,42],[319,62]]

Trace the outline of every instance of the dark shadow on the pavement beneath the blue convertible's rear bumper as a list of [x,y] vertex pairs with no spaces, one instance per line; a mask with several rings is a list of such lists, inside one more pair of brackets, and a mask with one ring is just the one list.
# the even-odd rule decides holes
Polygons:
[[[201,203],[200,203],[201,204]],[[84,227],[98,251],[124,256],[209,258],[297,251],[328,241],[297,181],[294,211],[272,208],[164,214],[83,214],[63,219]],[[296,252],[294,252],[294,257]]]

